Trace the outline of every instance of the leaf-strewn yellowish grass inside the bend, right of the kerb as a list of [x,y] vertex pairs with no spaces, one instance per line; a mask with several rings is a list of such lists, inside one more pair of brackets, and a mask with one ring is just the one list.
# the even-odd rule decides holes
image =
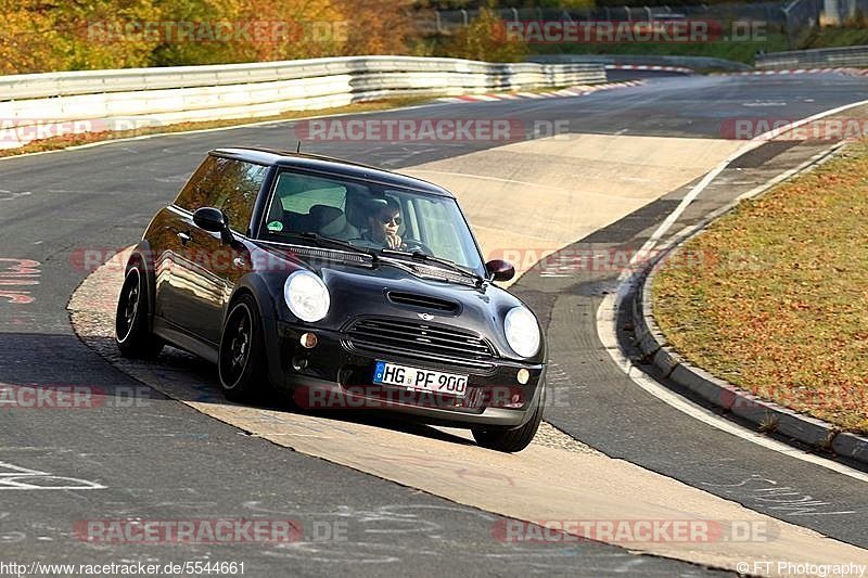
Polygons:
[[[868,143],[741,203],[654,278],[654,318],[691,363],[868,434]],[[690,258],[687,258],[690,256]]]

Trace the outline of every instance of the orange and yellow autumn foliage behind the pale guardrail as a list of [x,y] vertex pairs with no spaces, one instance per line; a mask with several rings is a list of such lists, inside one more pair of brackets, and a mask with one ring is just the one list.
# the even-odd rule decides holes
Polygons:
[[[416,23],[423,5],[414,0],[0,0],[0,74],[407,54],[425,41]],[[229,36],[215,34],[222,25]],[[195,31],[182,34],[183,26]],[[259,33],[251,35],[256,26]],[[469,33],[488,34],[483,28]]]

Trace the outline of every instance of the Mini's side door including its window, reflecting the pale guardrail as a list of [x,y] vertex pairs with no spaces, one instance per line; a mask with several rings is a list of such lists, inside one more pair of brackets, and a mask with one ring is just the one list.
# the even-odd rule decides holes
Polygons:
[[[165,316],[184,332],[213,346],[219,344],[224,309],[238,279],[250,270],[250,256],[242,244],[233,247],[220,233],[205,231],[193,222],[202,207],[218,208],[229,218],[239,240],[250,234],[251,216],[268,167],[212,155],[184,188],[177,205],[178,245],[169,272],[171,303]],[[186,193],[186,194],[184,194]]]

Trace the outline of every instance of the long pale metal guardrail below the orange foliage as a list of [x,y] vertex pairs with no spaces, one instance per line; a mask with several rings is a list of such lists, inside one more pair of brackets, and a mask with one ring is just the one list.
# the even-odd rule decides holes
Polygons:
[[[497,64],[413,56],[345,56],[219,66],[0,77],[0,147],[50,133],[252,118],[392,95],[458,95],[605,81],[599,64]],[[15,138],[10,138],[14,128]],[[53,136],[53,133],[49,134]],[[31,138],[34,137],[34,138]]]

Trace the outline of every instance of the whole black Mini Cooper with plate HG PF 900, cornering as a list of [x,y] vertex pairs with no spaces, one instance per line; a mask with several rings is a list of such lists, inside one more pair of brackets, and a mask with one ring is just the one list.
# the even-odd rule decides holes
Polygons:
[[168,343],[216,363],[234,401],[375,409],[519,451],[542,418],[536,317],[493,282],[432,183],[316,155],[212,151],[148,227],[116,316],[125,356]]

